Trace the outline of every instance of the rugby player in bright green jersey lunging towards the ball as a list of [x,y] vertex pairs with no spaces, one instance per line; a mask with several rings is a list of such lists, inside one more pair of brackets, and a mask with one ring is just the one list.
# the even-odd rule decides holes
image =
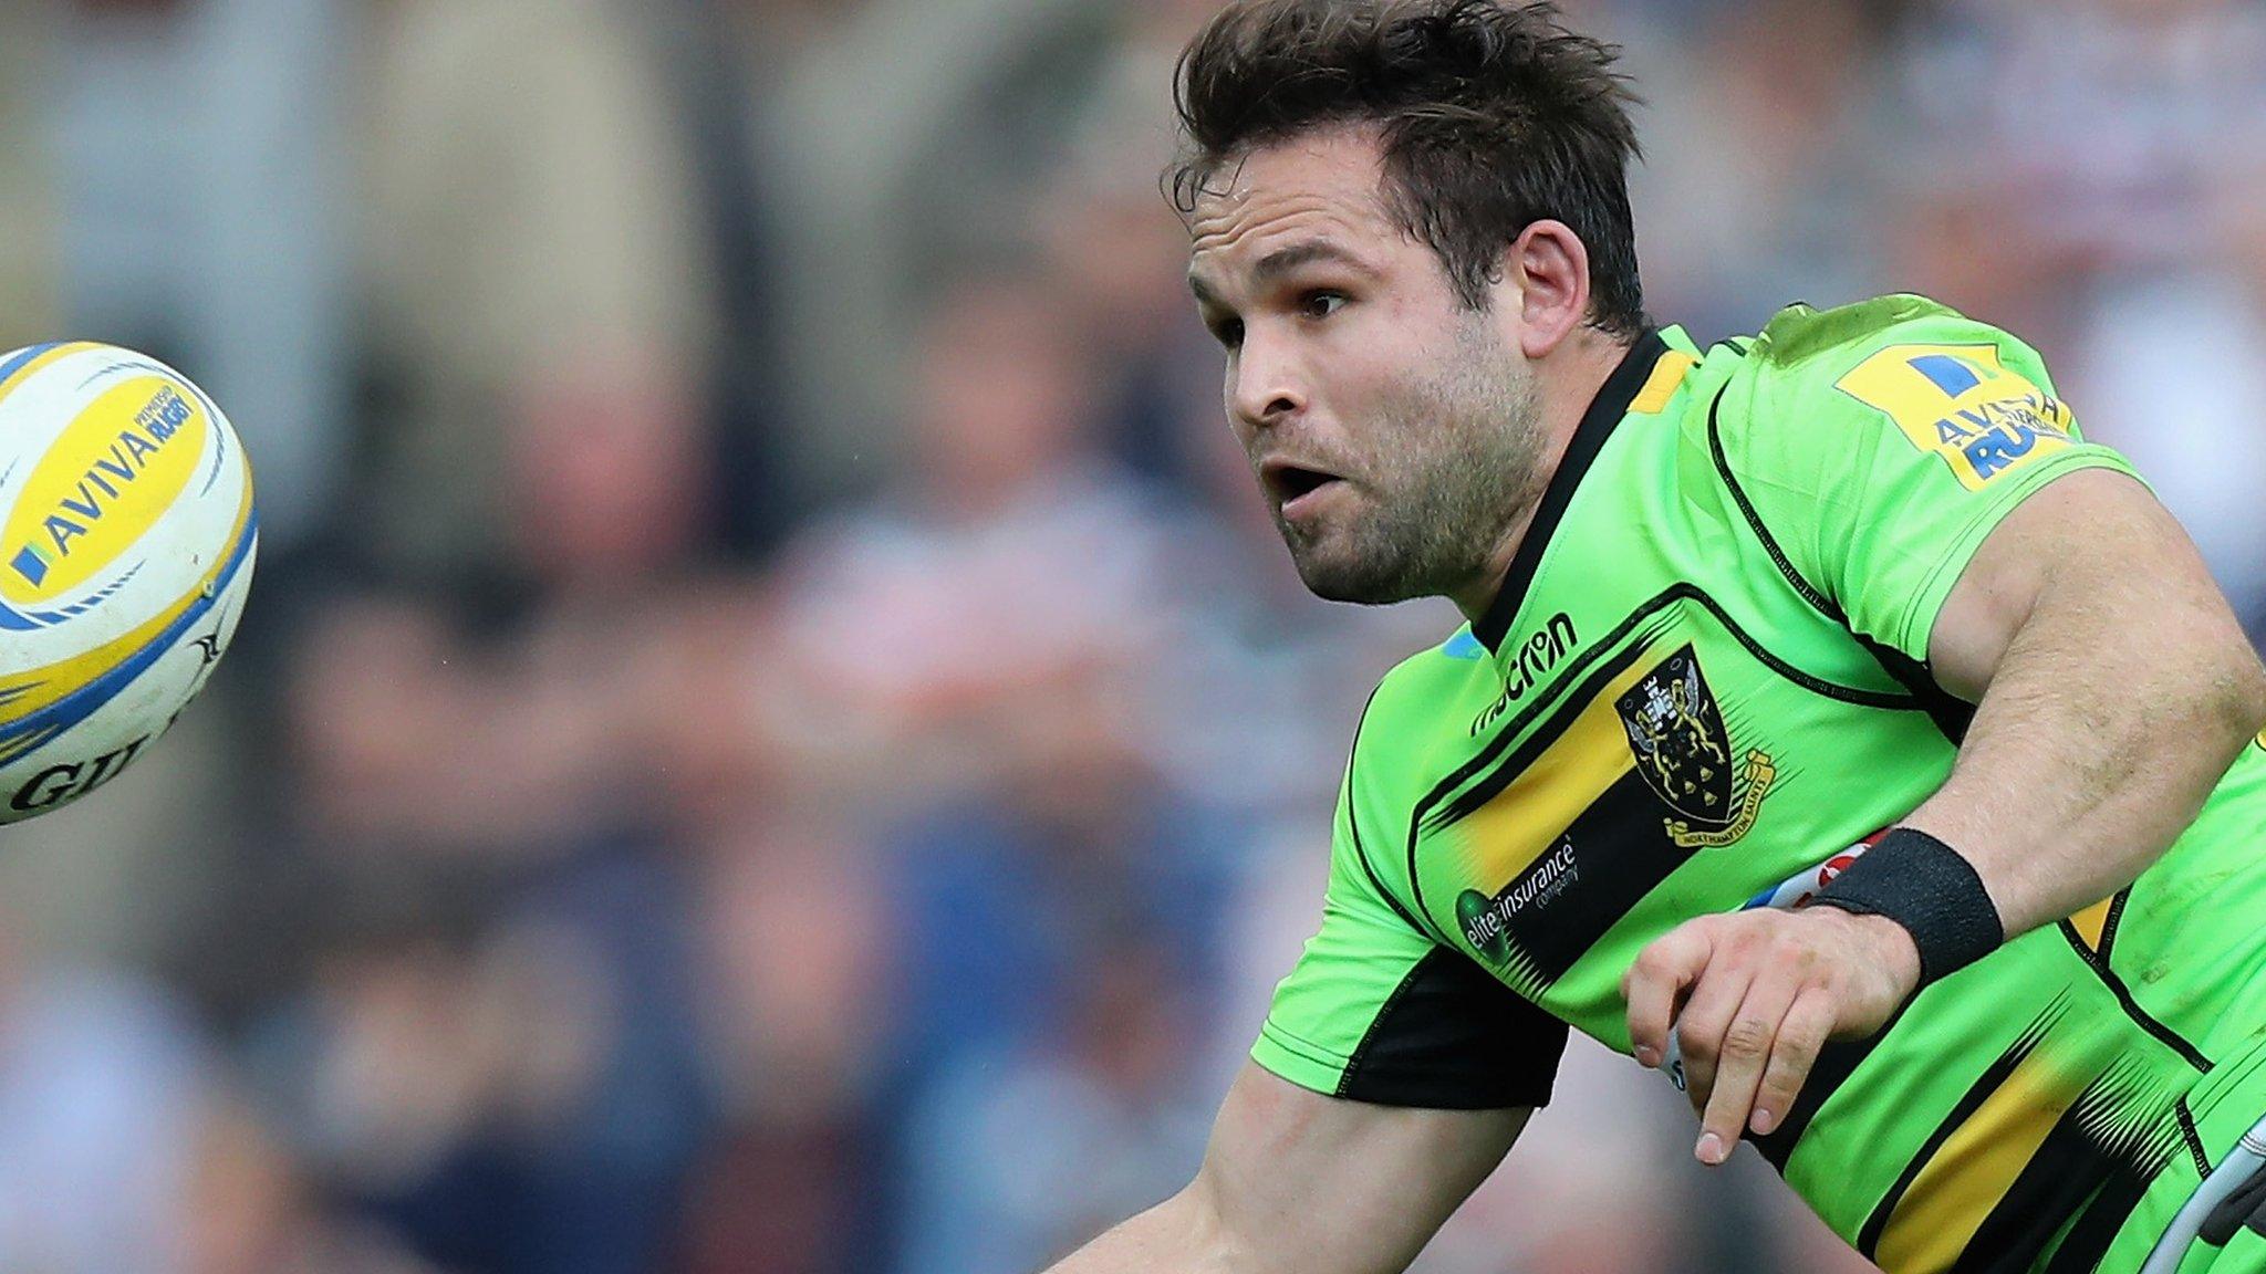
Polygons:
[[[1468,626],[1362,716],[1196,1179],[1063,1274],[1400,1269],[1568,1027],[1681,1052],[1697,1156],[1890,1274],[2139,1269],[2266,1113],[2266,673],[2189,540],[1944,306],[1654,326],[1613,57],[1502,0],[1183,54],[1190,283],[1298,571]],[[2182,1269],[2266,1269],[2246,1199]]]

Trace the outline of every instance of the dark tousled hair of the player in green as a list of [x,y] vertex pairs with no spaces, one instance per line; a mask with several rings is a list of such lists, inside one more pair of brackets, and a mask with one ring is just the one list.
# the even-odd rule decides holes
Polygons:
[[1629,338],[1650,320],[1627,181],[1636,95],[1618,57],[1548,2],[1237,0],[1174,73],[1172,199],[1190,215],[1255,147],[1378,125],[1387,209],[1439,254],[1466,306],[1486,308],[1530,224],[1561,220],[1588,247],[1591,324]]

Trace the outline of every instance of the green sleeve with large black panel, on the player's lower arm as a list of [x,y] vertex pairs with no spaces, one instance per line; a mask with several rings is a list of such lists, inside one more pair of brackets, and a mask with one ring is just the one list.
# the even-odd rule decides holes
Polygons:
[[1545,1106],[1566,1022],[1434,941],[1339,798],[1321,929],[1276,986],[1251,1061],[1314,1093],[1441,1111]]

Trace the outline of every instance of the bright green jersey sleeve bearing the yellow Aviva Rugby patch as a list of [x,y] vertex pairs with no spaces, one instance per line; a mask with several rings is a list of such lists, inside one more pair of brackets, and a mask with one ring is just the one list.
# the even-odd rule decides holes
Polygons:
[[[2076,469],[2137,474],[2085,442],[2037,351],[1901,297],[1890,322],[1765,329],[1709,419],[1722,481],[1788,580],[1856,635],[1928,660],[1967,562],[2021,501]],[[1876,315],[1879,317],[1879,315]]]

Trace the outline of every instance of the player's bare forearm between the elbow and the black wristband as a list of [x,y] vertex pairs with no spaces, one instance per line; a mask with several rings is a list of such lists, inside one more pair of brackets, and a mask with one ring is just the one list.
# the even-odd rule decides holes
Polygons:
[[2071,562],[1908,823],[1958,846],[2021,934],[2146,870],[2261,719],[2266,676],[2214,589]]

